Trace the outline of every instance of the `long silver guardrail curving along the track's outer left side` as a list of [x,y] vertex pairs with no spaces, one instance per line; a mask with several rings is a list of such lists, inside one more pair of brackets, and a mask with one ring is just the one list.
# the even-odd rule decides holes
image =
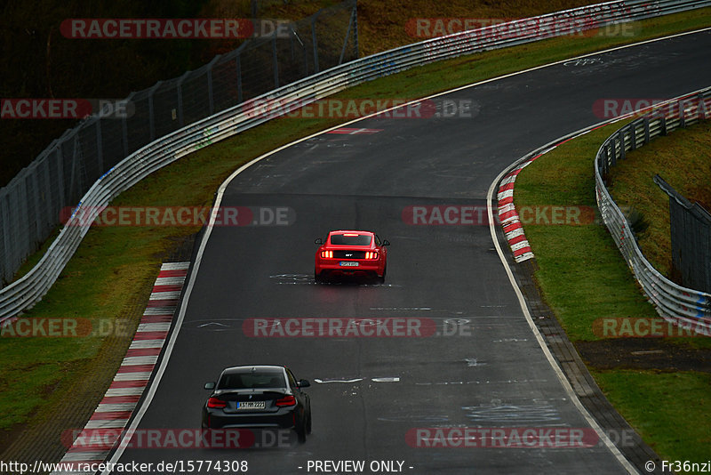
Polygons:
[[576,36],[606,25],[705,6],[711,6],[711,0],[609,2],[433,38],[327,69],[165,135],[124,158],[92,185],[77,205],[77,209],[83,208],[81,219],[75,211],[42,260],[27,275],[0,290],[0,322],[27,310],[46,294],[88,231],[89,227],[83,224],[86,220],[93,221],[111,199],[148,174],[197,149],[350,86],[435,60],[554,36]]

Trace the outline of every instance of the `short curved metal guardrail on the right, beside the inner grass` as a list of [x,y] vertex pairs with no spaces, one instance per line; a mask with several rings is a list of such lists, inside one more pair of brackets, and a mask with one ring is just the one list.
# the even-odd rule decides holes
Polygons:
[[[711,117],[711,87],[667,101],[613,133],[595,156],[595,196],[603,221],[624,256],[627,265],[662,318],[698,334],[711,335],[711,294],[678,286],[662,276],[644,258],[624,213],[605,187],[611,166],[625,158],[628,150],[648,143],[658,135]],[[671,112],[671,113],[669,113]]]

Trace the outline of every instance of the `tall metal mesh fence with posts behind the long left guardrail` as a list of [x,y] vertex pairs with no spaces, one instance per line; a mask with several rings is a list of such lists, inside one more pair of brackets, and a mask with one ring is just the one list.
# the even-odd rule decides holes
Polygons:
[[0,189],[0,288],[100,176],[185,125],[357,58],[356,0],[252,38],[179,78],[132,93],[126,117],[89,117]]

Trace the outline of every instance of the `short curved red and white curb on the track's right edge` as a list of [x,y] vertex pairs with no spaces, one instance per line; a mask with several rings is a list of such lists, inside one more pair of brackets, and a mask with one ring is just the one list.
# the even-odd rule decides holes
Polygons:
[[526,239],[526,235],[523,233],[523,226],[516,212],[514,205],[514,184],[518,173],[521,173],[523,168],[530,165],[533,160],[543,155],[543,153],[524,160],[521,164],[516,166],[514,170],[507,173],[499,183],[499,192],[496,195],[499,205],[499,222],[504,228],[504,235],[508,241],[508,246],[511,247],[511,251],[514,253],[515,262],[527,261],[533,259],[535,256],[531,251],[531,245],[528,239]]

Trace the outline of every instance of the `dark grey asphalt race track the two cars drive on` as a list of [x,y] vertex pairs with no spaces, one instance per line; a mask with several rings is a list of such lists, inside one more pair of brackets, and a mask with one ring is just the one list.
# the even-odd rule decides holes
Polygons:
[[[486,221],[474,214],[470,224],[413,225],[407,210],[481,209],[516,158],[602,121],[595,101],[707,86],[709,51],[703,32],[539,68],[444,96],[472,104],[471,117],[365,119],[348,127],[371,133],[322,134],[236,176],[221,205],[286,208],[290,222],[212,230],[139,429],[199,428],[203,384],[223,367],[284,364],[312,383],[313,434],[286,447],[128,448],[120,461],[244,460],[254,474],[315,473],[309,460],[365,461],[366,469],[399,461],[390,471],[412,474],[625,472],[602,443],[413,443],[418,428],[590,429],[539,348]],[[314,282],[314,238],[348,228],[392,243],[384,285]],[[418,318],[406,321],[419,335],[255,337],[244,323],[252,318]]]

